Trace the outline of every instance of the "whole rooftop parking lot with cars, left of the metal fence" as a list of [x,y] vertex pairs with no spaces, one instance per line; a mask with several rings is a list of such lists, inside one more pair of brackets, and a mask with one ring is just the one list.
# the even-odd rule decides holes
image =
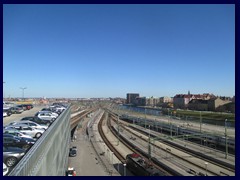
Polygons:
[[[19,111],[18,114],[12,114],[12,112],[15,112],[15,109],[20,109],[20,107],[22,107],[22,110]],[[12,171],[20,159],[66,107],[66,105],[60,105],[59,103],[50,106],[32,106],[27,104],[9,108],[4,107],[3,167],[5,168],[3,168],[3,175],[7,175]]]

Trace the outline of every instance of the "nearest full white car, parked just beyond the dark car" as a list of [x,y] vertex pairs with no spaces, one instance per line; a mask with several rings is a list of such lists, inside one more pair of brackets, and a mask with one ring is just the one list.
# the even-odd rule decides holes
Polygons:
[[10,125],[10,126],[6,126],[5,130],[10,129],[10,128],[14,128],[19,130],[20,132],[24,132],[28,135],[30,135],[33,138],[39,138],[42,136],[44,130],[43,129],[35,129],[31,126],[28,126],[26,124],[16,124],[16,125]]

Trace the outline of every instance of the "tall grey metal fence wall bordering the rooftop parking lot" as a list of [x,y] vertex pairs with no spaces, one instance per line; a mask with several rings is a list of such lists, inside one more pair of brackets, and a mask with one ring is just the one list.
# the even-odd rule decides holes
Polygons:
[[70,106],[19,161],[9,176],[63,176],[68,166]]

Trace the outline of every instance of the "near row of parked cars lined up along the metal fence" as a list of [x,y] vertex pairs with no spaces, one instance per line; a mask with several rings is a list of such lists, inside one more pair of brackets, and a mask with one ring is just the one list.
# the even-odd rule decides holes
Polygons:
[[66,108],[63,104],[53,104],[38,111],[35,116],[24,117],[3,127],[4,172],[19,162]]

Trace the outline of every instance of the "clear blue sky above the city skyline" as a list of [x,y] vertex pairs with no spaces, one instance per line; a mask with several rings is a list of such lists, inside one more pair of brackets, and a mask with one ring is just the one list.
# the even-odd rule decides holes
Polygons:
[[5,97],[235,95],[234,5],[3,5]]

